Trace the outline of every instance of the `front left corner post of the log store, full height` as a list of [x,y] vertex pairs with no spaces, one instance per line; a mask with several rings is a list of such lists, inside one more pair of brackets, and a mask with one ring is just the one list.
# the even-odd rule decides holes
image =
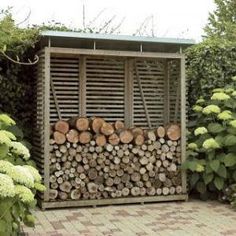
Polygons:
[[44,192],[44,201],[49,201],[49,139],[50,139],[50,48],[45,47],[45,62],[44,62],[44,185],[46,191]]

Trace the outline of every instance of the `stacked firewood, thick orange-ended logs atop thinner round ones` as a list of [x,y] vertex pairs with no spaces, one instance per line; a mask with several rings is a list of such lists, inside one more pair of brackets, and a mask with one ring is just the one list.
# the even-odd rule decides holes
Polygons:
[[50,139],[50,200],[182,193],[180,128],[102,118],[59,120]]

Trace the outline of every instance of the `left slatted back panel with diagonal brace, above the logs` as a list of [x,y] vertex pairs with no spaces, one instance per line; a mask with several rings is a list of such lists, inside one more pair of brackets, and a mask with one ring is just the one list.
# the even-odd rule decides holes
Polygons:
[[[62,119],[79,114],[79,59],[51,57],[51,78]],[[58,120],[58,112],[50,89],[50,123]]]

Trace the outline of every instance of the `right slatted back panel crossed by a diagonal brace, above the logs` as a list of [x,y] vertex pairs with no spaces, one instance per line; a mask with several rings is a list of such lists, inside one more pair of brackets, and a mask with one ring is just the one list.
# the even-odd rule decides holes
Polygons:
[[[164,114],[164,66],[159,60],[137,60],[146,106],[152,127],[163,124]],[[148,128],[144,104],[134,70],[134,125]]]

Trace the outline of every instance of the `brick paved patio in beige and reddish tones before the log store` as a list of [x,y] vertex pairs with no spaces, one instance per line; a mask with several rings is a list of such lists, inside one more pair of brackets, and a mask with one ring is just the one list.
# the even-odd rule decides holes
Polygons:
[[48,210],[25,235],[236,235],[236,211],[218,202],[172,202]]

